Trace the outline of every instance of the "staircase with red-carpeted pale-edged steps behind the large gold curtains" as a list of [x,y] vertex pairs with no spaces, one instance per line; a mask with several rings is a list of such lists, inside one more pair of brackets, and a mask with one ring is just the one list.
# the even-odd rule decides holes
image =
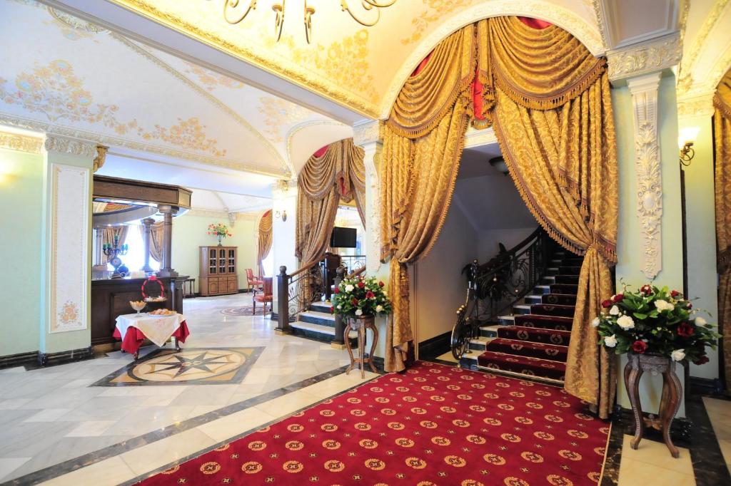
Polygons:
[[554,252],[540,285],[512,306],[511,315],[480,327],[460,365],[563,385],[582,262],[572,253]]

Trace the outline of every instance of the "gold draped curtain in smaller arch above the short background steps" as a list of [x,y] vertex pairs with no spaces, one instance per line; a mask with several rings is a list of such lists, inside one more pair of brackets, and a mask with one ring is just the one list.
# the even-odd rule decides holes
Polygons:
[[319,261],[325,255],[333,232],[338,204],[342,199],[355,204],[365,228],[365,152],[344,139],[327,146],[320,157],[309,158],[297,178],[297,227],[295,256],[300,266]]

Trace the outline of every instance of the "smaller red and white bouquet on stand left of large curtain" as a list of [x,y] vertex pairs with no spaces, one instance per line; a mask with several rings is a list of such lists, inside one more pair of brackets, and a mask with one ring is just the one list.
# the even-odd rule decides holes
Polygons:
[[343,279],[333,293],[330,312],[343,317],[366,317],[389,314],[391,301],[386,296],[383,282],[376,277]]

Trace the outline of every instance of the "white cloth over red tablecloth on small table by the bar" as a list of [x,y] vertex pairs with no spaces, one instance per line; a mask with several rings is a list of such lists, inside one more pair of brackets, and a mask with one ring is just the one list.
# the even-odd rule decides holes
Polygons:
[[145,339],[163,347],[171,337],[175,339],[175,350],[180,352],[180,343],[189,336],[188,325],[183,315],[150,315],[148,313],[126,314],[117,317],[114,338],[122,342],[123,351],[140,356],[140,346]]

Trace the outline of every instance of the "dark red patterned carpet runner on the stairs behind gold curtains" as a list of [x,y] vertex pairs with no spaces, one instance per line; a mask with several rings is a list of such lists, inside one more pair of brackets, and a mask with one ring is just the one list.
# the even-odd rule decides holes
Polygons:
[[553,275],[545,277],[550,290],[542,303],[532,304],[529,314],[513,315],[515,325],[498,329],[498,337],[477,358],[482,368],[564,381],[582,259],[563,255],[570,254],[560,252],[549,264]]

